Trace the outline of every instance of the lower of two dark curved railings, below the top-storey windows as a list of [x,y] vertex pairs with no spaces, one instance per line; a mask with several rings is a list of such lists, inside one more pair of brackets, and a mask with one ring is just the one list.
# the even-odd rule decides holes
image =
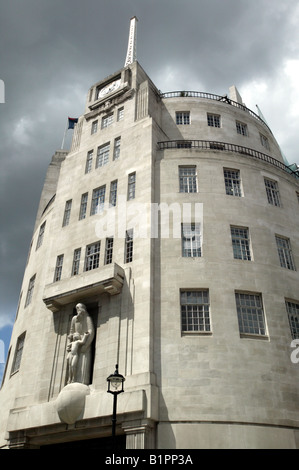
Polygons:
[[293,170],[270,155],[248,147],[243,147],[242,145],[230,144],[227,142],[217,142],[214,140],[168,140],[164,142],[158,142],[158,148],[159,150],[196,148],[200,150],[236,152],[242,155],[257,158],[258,160],[262,160],[266,163],[270,163],[271,165],[274,165],[275,167],[295,176],[296,178],[299,178],[299,169]]

